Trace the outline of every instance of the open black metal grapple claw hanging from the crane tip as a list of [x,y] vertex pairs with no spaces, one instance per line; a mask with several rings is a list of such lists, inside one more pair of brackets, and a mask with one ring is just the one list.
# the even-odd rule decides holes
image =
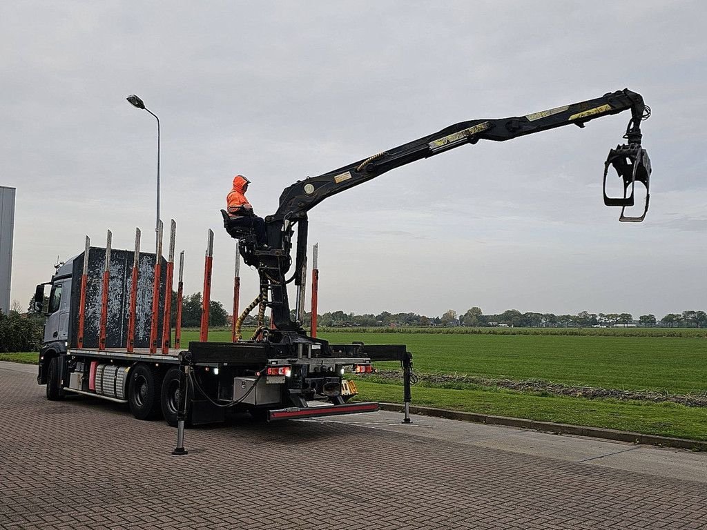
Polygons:
[[[624,181],[624,196],[609,197],[607,195],[607,173],[609,166],[613,166],[619,177]],[[629,223],[641,223],[648,212],[648,183],[650,179],[650,158],[648,152],[641,148],[640,144],[630,143],[628,145],[617,146],[609,151],[607,161],[604,162],[604,204],[607,206],[621,206],[620,221]],[[633,206],[635,199],[633,192],[636,189],[636,182],[641,182],[645,186],[645,208],[643,214],[638,217],[624,216],[627,206]],[[630,188],[630,189],[629,189]]]

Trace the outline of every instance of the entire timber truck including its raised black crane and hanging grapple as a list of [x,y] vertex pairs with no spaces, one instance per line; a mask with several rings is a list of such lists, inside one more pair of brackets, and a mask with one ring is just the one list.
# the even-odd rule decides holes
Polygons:
[[[406,346],[332,344],[303,328],[308,211],[327,197],[395,167],[452,148],[481,140],[506,141],[564,125],[584,127],[592,119],[626,110],[631,112],[626,143],[611,149],[604,163],[604,204],[620,207],[621,221],[641,222],[648,211],[651,167],[641,146],[640,126],[650,116],[650,107],[629,89],[524,116],[460,122],[299,180],[282,192],[277,211],[264,218],[267,245],[257,244],[252,230],[234,226],[228,212],[221,210],[223,226],[238,240],[240,256],[259,275],[259,295],[236,320],[238,334],[233,342],[206,341],[202,333],[202,340],[182,348],[177,324],[171,343],[165,308],[171,303],[174,225],[167,260],[162,256],[161,236],[153,254],[139,252],[139,231],[132,252],[111,251],[110,232],[105,248],[90,247],[87,238],[82,254],[57,266],[51,281],[37,285],[37,307],[45,299],[45,288],[50,288],[37,383],[46,385],[49,400],[66,394],[96,396],[129,404],[136,418],[163,416],[169,425],[180,423],[181,428],[182,423],[221,421],[228,410],[249,411],[269,421],[376,411],[376,403],[350,401],[356,391],[355,384],[346,381],[346,373],[365,374],[376,360],[398,360],[409,421],[412,357]],[[619,196],[607,194],[610,169],[617,172],[623,187]],[[636,202],[637,182],[645,186],[645,206],[632,216],[626,208]],[[207,265],[213,243],[213,232],[209,233]],[[210,269],[207,273],[210,276]],[[290,283],[296,287],[293,311]],[[252,338],[242,340],[243,319],[255,307],[259,326]],[[267,310],[269,327],[262,325]],[[206,303],[204,311],[208,311]],[[204,319],[202,331],[203,327]]]

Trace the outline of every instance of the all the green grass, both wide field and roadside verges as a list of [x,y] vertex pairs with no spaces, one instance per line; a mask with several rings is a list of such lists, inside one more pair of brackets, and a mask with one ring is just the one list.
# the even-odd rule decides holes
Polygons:
[[[521,331],[521,330],[515,330]],[[605,389],[704,394],[707,340],[703,330],[660,336],[645,330],[600,329],[586,335],[509,333],[390,333],[324,331],[332,343],[406,344],[418,373],[463,374],[489,379],[542,379]],[[623,332],[623,333],[622,333]],[[252,333],[252,331],[250,331]],[[244,337],[249,337],[244,332]],[[211,341],[230,341],[230,330],[212,330]],[[182,344],[199,340],[182,332]],[[3,354],[0,360],[36,363],[36,353]],[[376,363],[397,368],[397,363]],[[402,402],[399,384],[358,381],[360,399]],[[498,416],[630,430],[707,440],[707,408],[650,401],[618,401],[554,396],[470,385],[450,389],[426,384],[413,388],[413,403]]]

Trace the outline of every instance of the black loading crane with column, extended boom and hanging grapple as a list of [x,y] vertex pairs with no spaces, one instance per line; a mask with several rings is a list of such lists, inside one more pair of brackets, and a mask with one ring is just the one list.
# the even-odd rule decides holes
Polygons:
[[[303,283],[306,267],[308,217],[307,212],[327,197],[344,192],[363,182],[368,182],[385,172],[430,158],[467,143],[480,140],[506,141],[555,129],[564,125],[584,127],[587,122],[612,114],[631,110],[631,119],[624,139],[627,143],[609,151],[604,163],[604,204],[621,207],[619,220],[640,222],[648,211],[648,183],[650,159],[641,148],[641,121],[650,116],[640,94],[628,88],[607,93],[600,98],[563,105],[525,116],[501,119],[473,119],[445,127],[440,131],[401,146],[376,153],[354,163],[339,167],[316,177],[307,177],[287,187],[280,196],[277,211],[265,218],[268,249],[260,249],[252,234],[228,225],[228,216],[223,212],[224,226],[232,237],[240,239],[240,252],[246,264],[257,267],[260,277],[260,303],[272,310],[274,330],[267,331],[267,340],[275,342],[319,342],[325,341],[306,336],[300,322],[293,320],[287,296],[287,284],[294,281],[298,287],[298,300],[303,300]],[[607,172],[614,167],[624,185],[624,194],[619,197],[607,195]],[[636,182],[645,185],[645,208],[643,215],[625,216],[626,207],[634,205]],[[291,278],[286,273],[292,265],[291,247],[294,226],[297,226],[297,249],[295,270]],[[264,306],[261,305],[262,314]]]

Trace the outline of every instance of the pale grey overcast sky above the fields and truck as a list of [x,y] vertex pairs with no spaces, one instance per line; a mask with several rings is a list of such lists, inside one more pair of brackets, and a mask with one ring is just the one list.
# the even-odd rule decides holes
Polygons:
[[[481,141],[310,211],[320,312],[707,310],[706,27],[701,1],[4,2],[11,298],[25,306],[85,235],[103,246],[110,228],[132,249],[139,226],[151,247],[156,121],[132,93],[160,117],[161,211],[186,251],[185,290],[201,290],[212,228],[212,296],[230,310],[218,210],[233,175],[265,216],[298,179],[450,124],[628,87],[653,109],[643,223],[602,202],[629,112]],[[245,305],[257,275],[241,276]]]

